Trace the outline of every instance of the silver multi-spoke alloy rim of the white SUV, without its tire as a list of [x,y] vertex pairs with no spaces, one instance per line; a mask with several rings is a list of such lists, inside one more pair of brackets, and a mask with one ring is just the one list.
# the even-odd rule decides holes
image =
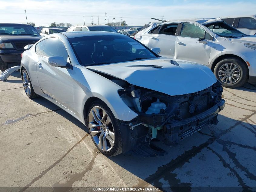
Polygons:
[[234,63],[225,63],[220,67],[218,76],[223,83],[233,84],[240,78],[241,71]]

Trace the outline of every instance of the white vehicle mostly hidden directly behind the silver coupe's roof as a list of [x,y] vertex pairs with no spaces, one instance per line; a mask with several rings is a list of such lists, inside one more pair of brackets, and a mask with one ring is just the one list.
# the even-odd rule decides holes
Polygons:
[[108,25],[77,25],[68,28],[67,32],[71,31],[108,31],[117,32],[113,27]]

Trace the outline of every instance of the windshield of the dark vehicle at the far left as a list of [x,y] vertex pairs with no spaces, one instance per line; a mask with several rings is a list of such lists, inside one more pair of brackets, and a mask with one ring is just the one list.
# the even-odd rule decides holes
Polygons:
[[0,35],[31,35],[40,36],[31,25],[0,24]]

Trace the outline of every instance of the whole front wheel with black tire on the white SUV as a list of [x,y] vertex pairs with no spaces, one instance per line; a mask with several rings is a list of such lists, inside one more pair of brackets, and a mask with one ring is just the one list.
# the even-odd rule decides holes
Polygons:
[[[234,69],[233,72],[232,69]],[[222,86],[227,88],[242,86],[249,76],[244,61],[235,57],[228,57],[218,62],[214,68],[214,75],[222,83]]]

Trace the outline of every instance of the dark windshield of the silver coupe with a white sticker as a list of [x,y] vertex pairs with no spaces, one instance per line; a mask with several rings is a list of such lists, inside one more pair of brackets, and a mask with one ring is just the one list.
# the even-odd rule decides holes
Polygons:
[[148,48],[126,35],[97,35],[70,38],[81,65],[100,65],[156,58]]

